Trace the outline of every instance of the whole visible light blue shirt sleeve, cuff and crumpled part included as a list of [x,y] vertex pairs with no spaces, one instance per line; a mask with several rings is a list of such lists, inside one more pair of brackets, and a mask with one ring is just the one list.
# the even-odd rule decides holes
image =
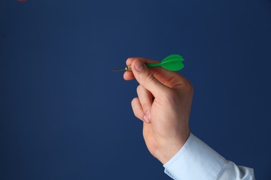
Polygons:
[[255,179],[253,169],[227,161],[193,134],[163,166],[165,173],[177,180]]

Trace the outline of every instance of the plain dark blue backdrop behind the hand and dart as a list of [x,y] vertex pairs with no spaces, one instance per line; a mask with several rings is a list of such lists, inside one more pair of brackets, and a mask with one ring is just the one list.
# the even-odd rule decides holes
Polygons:
[[271,1],[0,1],[0,179],[170,179],[127,57],[185,58],[190,128],[271,179]]

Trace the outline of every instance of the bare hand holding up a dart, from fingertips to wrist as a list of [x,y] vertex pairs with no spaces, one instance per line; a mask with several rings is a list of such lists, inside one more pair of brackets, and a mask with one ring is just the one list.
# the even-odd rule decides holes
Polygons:
[[161,67],[147,68],[145,63],[157,63],[145,58],[129,58],[132,71],[125,80],[139,82],[138,98],[131,102],[133,113],[143,121],[143,136],[149,152],[165,164],[186,143],[192,103],[192,84],[182,75]]

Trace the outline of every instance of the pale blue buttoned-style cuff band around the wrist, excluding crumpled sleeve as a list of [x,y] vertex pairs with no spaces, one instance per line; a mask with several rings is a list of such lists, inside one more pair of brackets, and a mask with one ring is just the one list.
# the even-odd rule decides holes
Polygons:
[[192,133],[163,166],[172,179],[215,179],[226,160]]

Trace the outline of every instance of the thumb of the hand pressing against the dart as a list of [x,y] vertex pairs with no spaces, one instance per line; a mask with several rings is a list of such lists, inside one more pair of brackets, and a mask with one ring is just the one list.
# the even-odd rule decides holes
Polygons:
[[169,89],[154,77],[142,60],[134,60],[131,67],[133,75],[138,83],[142,85],[142,87],[145,87],[145,89],[149,90],[154,97],[163,96],[165,91]]

